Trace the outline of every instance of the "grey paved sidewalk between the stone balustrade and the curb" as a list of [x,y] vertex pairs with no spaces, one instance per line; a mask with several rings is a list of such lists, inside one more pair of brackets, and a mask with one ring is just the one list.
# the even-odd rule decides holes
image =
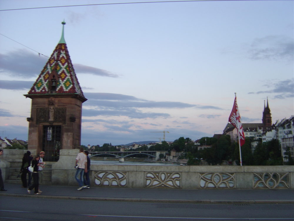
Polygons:
[[226,204],[294,204],[293,189],[150,189],[41,185],[41,195],[27,193],[19,184],[5,184],[0,196],[39,197],[46,199],[80,199],[100,201]]

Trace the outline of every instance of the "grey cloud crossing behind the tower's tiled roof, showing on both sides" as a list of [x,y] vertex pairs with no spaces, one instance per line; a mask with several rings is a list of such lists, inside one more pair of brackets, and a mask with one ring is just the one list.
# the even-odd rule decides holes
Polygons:
[[[14,77],[30,78],[37,77],[48,61],[48,57],[39,56],[25,49],[19,49],[0,54],[0,73],[5,73]],[[17,65],[16,65],[17,64]],[[118,77],[107,70],[96,67],[73,64],[76,74],[92,74],[103,77]]]

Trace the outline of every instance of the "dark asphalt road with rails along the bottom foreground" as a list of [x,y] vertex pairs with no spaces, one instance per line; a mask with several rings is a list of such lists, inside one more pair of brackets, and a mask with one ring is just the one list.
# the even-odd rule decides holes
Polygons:
[[0,220],[294,220],[294,204],[184,204],[0,198]]

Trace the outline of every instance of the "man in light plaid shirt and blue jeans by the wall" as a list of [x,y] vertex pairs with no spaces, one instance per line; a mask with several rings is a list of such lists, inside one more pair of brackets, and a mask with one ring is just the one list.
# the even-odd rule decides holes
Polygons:
[[86,185],[84,185],[84,172],[88,172],[87,170],[87,156],[86,154],[84,154],[84,149],[81,148],[80,152],[78,153],[78,155],[76,156],[76,166],[77,168],[76,170],[76,181],[78,182],[78,189],[77,190],[82,190],[83,188],[87,187]]

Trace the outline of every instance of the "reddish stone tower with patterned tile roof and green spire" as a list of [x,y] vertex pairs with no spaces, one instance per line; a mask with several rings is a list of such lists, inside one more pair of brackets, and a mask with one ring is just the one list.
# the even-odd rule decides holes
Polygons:
[[26,98],[31,98],[28,149],[45,151],[46,161],[57,161],[59,149],[81,145],[84,97],[62,35]]

